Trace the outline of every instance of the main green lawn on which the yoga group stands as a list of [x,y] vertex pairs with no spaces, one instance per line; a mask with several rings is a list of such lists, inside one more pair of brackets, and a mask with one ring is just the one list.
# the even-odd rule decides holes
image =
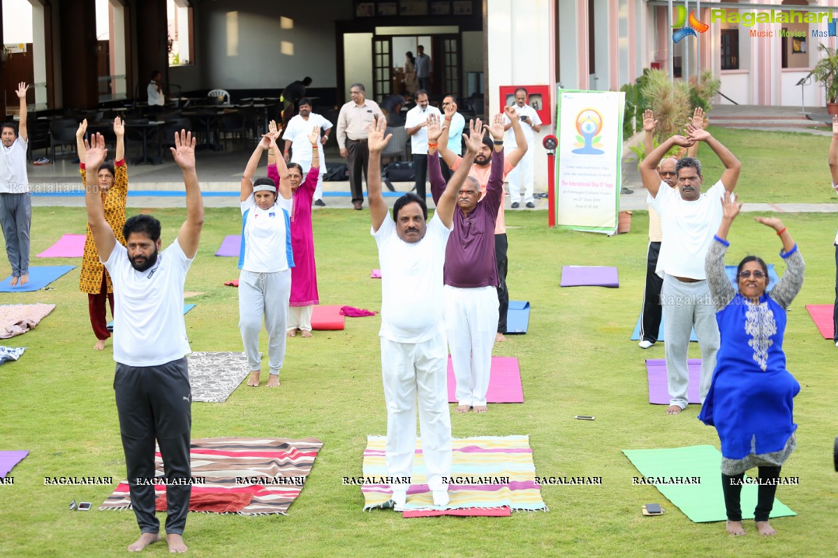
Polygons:
[[[720,131],[719,137],[727,143],[745,133]],[[808,136],[794,140],[798,137],[823,142]],[[772,147],[776,149],[765,149]],[[783,156],[773,158],[779,162]],[[740,182],[742,197],[747,189],[759,187],[789,192],[789,197],[796,194],[797,199],[798,185],[767,178],[794,177],[800,170],[775,165],[770,173],[752,171],[753,181],[761,183]],[[817,170],[824,184],[804,187],[811,192],[823,189],[820,201],[828,201],[825,162]],[[706,174],[714,176],[716,171],[708,169]],[[163,221],[168,244],[184,212],[168,209],[155,214]],[[379,267],[369,212],[321,210],[314,215],[323,304],[378,310],[380,282],[369,279],[370,269]],[[189,514],[189,555],[833,555],[838,474],[832,470],[831,452],[838,435],[838,349],[820,338],[804,305],[833,300],[832,238],[838,220],[829,214],[783,217],[799,241],[807,269],[803,291],[789,311],[784,345],[789,370],[802,391],[795,407],[799,448],[782,474],[799,476],[800,484],[778,491],[779,499],[799,515],[773,520],[779,535],[761,539],[753,523],[746,522],[748,535],[732,538],[722,523],[693,524],[654,487],[631,483],[638,472],[623,457],[623,448],[701,443],[718,447],[715,430],[696,420],[699,407],[669,417],[665,407],[647,402],[644,359],[663,358],[664,348],[659,344],[641,351],[629,340],[643,295],[646,213],[634,212],[631,233],[607,238],[548,230],[546,212],[508,212],[510,294],[530,301],[530,333],[510,335],[509,341],[495,346],[494,354],[519,358],[526,402],[490,406],[489,413],[480,416],[453,414],[453,434],[529,434],[539,475],[601,476],[603,485],[546,487],[542,494],[549,513],[520,512],[509,518],[405,520],[392,511],[362,512],[360,489],[344,486],[341,479],[360,474],[366,436],[385,433],[380,318],[347,319],[344,331],[315,332],[312,339],[289,342],[279,390],[242,384],[223,404],[193,405],[194,438],[317,437],[325,444],[287,516]],[[207,211],[198,258],[186,282],[186,290],[203,293],[189,299],[197,307],[186,316],[194,351],[241,351],[236,291],[223,285],[237,277],[235,259],[212,255],[226,234],[237,233],[239,219],[235,208]],[[62,233],[83,232],[85,214],[80,208],[38,207],[33,223],[35,254]],[[782,273],[779,241],[749,215],[738,219],[731,241],[728,263],[758,253],[779,264]],[[34,264],[67,263],[38,260]],[[617,266],[620,288],[560,289],[564,264]],[[5,266],[3,261],[3,274],[8,272]],[[67,510],[71,499],[91,501],[96,508],[113,487],[44,486],[45,476],[112,476],[118,482],[125,474],[111,343],[104,353],[92,350],[95,339],[78,278],[75,269],[56,281],[54,290],[0,294],[0,304],[57,305],[33,331],[4,341],[26,346],[27,351],[20,361],[0,367],[0,449],[28,449],[30,454],[13,470],[14,484],[0,485],[2,556],[122,556],[137,537],[130,511]],[[266,351],[264,339],[262,346]],[[691,356],[699,356],[696,344]],[[597,420],[574,420],[577,414]],[[640,506],[647,502],[660,502],[667,513],[643,517]],[[165,551],[165,545],[154,545],[146,554]]]

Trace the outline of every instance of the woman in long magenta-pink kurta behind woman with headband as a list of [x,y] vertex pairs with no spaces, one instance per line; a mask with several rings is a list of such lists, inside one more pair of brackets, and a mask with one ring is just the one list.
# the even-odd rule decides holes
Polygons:
[[[305,180],[303,181],[303,167],[297,163],[288,164],[288,179],[291,181],[292,191],[291,247],[294,253],[291,300],[288,303],[288,337],[297,335],[297,330],[303,332],[303,337],[312,336],[312,310],[314,305],[320,304],[312,232],[312,202],[320,172],[320,129],[313,128],[308,140],[312,143],[312,166]],[[280,177],[274,158],[276,155],[268,152],[267,176],[279,184]]]

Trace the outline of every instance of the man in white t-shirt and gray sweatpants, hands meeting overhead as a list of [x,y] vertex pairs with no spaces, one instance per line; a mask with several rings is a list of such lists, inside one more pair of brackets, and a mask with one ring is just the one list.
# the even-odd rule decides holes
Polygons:
[[[733,192],[741,163],[710,132],[687,125],[689,136],[672,136],[649,153],[640,163],[643,185],[649,190],[647,201],[660,215],[663,240],[660,243],[657,273],[664,279],[660,290],[663,306],[666,350],[666,375],[669,380],[670,407],[666,412],[675,415],[689,402],[687,387],[687,349],[690,331],[696,330],[701,347],[701,402],[710,389],[716,351],[719,349],[719,328],[716,312],[707,287],[704,259],[713,235],[722,222],[724,193]],[[675,165],[677,191],[660,179],[660,161],[673,146],[689,147],[704,141],[716,153],[725,171],[719,182],[706,193],[701,193],[704,177],[701,162],[695,157],[684,157]]]

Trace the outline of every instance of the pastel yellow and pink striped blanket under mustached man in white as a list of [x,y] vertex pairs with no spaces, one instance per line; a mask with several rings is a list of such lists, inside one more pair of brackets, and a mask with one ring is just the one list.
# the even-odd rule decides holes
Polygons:
[[[368,436],[362,465],[364,509],[390,508],[391,489],[388,484],[375,484],[387,476],[384,436]],[[502,508],[547,509],[541,499],[541,485],[535,484],[529,436],[478,436],[455,438],[452,443],[451,476],[457,481],[449,485],[451,501],[447,509]],[[407,490],[404,509],[439,509],[426,484],[422,442],[416,442],[411,487]]]

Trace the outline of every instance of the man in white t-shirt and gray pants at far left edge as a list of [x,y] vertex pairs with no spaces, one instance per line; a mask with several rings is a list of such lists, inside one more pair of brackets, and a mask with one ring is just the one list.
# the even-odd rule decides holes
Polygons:
[[29,200],[29,179],[26,174],[26,90],[18,84],[20,120],[4,122],[0,132],[0,224],[6,239],[8,264],[12,266],[11,286],[29,282],[29,226],[32,223],[32,202]]

